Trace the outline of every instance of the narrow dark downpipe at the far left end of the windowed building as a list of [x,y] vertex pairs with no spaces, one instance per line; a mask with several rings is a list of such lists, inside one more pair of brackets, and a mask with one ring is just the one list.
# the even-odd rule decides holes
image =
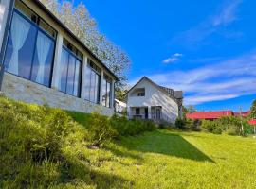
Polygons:
[[6,23],[6,28],[5,28],[4,37],[3,37],[3,43],[2,43],[2,47],[1,47],[1,51],[0,51],[0,91],[2,88],[4,72],[5,72],[4,57],[5,57],[6,47],[7,47],[7,43],[8,43],[10,20],[11,20],[11,15],[12,15],[13,8],[14,8],[14,2],[15,2],[15,0],[9,1],[9,9],[7,9],[8,10],[7,23]]

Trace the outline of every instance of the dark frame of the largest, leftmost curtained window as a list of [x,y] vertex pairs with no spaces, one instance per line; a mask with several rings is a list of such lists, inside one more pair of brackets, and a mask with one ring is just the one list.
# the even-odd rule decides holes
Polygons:
[[[20,1],[22,4],[24,4],[22,1]],[[24,6],[27,7],[27,5],[24,4]],[[30,9],[27,7],[27,9]],[[31,10],[31,9],[30,9]],[[37,15],[33,10],[31,10],[35,15]],[[23,13],[20,9],[17,9],[16,7],[13,8],[13,12],[11,14],[11,19],[10,19],[10,24],[12,24],[12,21],[13,21],[13,16],[14,14],[18,14],[18,16],[20,16],[21,18],[23,18],[24,20],[26,20],[31,26],[34,26],[36,28],[36,34],[35,34],[35,42],[33,44],[33,53],[32,53],[32,60],[31,60],[31,66],[30,66],[30,71],[29,71],[29,77],[22,77],[22,76],[19,76],[19,75],[15,75],[13,73],[10,73],[6,68],[5,68],[5,72],[9,73],[10,75],[13,75],[13,76],[16,76],[16,77],[21,77],[21,78],[24,78],[24,79],[27,79],[31,82],[34,82],[36,84],[39,84],[39,85],[42,85],[42,86],[45,86],[47,88],[51,88],[51,84],[52,84],[52,75],[53,75],[53,66],[54,66],[54,57],[55,57],[55,53],[56,53],[56,38],[54,38],[53,36],[49,35],[43,28],[41,28],[38,23],[35,23],[33,22],[32,20],[30,20],[29,18],[27,18],[27,15],[25,15],[25,13]],[[39,15],[37,15],[38,19],[42,19]],[[43,19],[42,19],[43,20]],[[44,22],[46,23],[46,21],[44,20]],[[47,23],[46,23],[47,24]],[[48,24],[47,24],[48,25]],[[53,27],[52,27],[53,28]],[[53,28],[54,29],[54,28]],[[55,29],[54,29],[55,30]],[[37,38],[38,38],[38,33],[42,32],[44,35],[46,35],[47,38],[49,38],[50,40],[52,40],[53,42],[53,57],[52,57],[52,60],[51,60],[51,66],[50,66],[50,73],[49,73],[49,83],[48,85],[45,85],[43,83],[39,83],[39,82],[36,82],[34,80],[32,80],[32,71],[33,71],[33,67],[34,67],[34,59],[35,59],[35,53],[36,53],[36,43],[37,43]],[[58,34],[58,32],[55,30],[56,32],[56,35]],[[9,33],[8,33],[8,43],[9,43],[9,38],[10,38],[10,30],[9,30]],[[6,61],[6,56],[7,56],[7,50],[8,50],[8,45],[6,46],[6,49],[5,49],[5,58],[4,58],[4,63]]]

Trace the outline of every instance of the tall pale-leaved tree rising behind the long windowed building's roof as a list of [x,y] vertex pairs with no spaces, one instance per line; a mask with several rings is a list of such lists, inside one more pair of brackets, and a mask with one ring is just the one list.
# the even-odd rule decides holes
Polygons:
[[117,87],[126,85],[131,61],[121,48],[99,32],[97,23],[82,2],[41,0],[110,70],[119,77]]

